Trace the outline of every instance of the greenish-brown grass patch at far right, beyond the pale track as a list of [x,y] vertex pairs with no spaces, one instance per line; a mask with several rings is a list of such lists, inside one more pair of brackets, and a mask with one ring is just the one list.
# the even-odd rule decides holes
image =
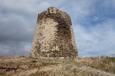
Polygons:
[[95,57],[80,59],[80,64],[90,66],[95,69],[100,69],[106,72],[115,73],[115,58],[114,57]]

